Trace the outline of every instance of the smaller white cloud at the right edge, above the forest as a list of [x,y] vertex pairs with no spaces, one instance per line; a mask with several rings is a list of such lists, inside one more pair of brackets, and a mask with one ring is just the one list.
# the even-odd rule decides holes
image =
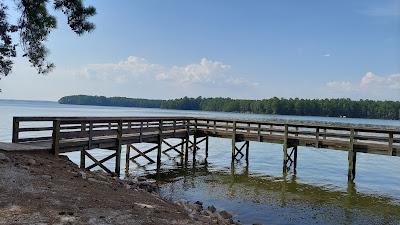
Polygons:
[[[400,96],[400,73],[379,76],[372,72],[366,73],[360,81],[329,81],[326,87],[336,92],[353,92],[364,96]],[[377,96],[378,97],[378,96]]]

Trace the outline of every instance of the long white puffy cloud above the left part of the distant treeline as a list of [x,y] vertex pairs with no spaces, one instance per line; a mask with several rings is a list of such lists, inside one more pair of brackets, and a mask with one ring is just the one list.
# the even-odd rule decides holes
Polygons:
[[219,61],[202,58],[199,63],[165,67],[153,64],[146,59],[129,56],[117,63],[89,64],[84,66],[79,75],[88,79],[126,82],[130,79],[146,78],[153,81],[173,82],[176,84],[229,84],[255,85],[243,77],[233,76],[231,66]]

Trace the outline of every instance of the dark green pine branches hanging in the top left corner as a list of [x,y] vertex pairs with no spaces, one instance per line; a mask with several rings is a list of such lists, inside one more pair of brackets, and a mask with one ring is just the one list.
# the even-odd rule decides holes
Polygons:
[[[50,72],[54,64],[47,61],[49,50],[44,43],[48,35],[57,27],[57,20],[48,12],[49,0],[20,0],[17,8],[21,16],[16,25],[9,23],[8,8],[0,3],[0,78],[12,70],[12,58],[16,57],[16,46],[11,34],[19,32],[23,57],[35,67],[39,74]],[[82,0],[54,0],[54,8],[68,17],[68,24],[78,35],[92,31],[95,26],[89,17],[96,14],[92,6],[84,7]]]

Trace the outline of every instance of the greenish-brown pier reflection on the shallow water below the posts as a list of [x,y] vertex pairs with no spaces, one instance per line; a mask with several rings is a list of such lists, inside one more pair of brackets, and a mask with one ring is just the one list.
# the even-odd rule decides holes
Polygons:
[[393,224],[396,221],[393,216],[397,218],[400,213],[400,206],[389,197],[359,193],[353,182],[348,182],[344,188],[327,188],[299,182],[295,173],[282,177],[251,174],[248,166],[244,161],[236,161],[226,170],[217,170],[204,161],[197,164],[195,169],[192,165],[183,165],[149,177],[162,177],[162,181],[166,182],[163,192],[170,197],[185,195],[182,192],[188,192],[190,196],[191,192],[196,192],[195,196],[199,199],[193,201],[228,199],[251,202],[260,208],[292,209],[304,206],[305,209],[315,209],[310,209],[312,212],[309,213],[317,213],[319,207],[330,207],[329,212],[342,217],[340,222],[337,221],[340,224],[358,224],[358,213],[361,211],[379,216],[382,224]]

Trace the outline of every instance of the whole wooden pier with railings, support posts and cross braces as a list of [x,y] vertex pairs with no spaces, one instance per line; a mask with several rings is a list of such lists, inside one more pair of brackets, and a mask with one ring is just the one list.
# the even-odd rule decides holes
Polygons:
[[[192,140],[190,137],[193,137]],[[236,120],[194,117],[14,117],[12,142],[31,148],[45,149],[52,154],[80,151],[80,167],[101,167],[109,173],[120,174],[121,149],[126,146],[126,164],[138,157],[161,167],[162,152],[175,151],[188,162],[188,151],[193,151],[195,162],[198,144],[205,142],[208,157],[208,137],[232,140],[231,160],[240,160],[251,154],[250,141],[283,145],[283,172],[296,170],[298,147],[315,147],[348,152],[348,180],[356,174],[358,152],[400,156],[400,128],[371,126],[344,126],[303,124],[259,120]],[[181,142],[172,145],[168,139]],[[136,143],[152,143],[149,149],[139,149]],[[167,149],[162,149],[162,145]],[[106,149],[112,153],[96,159],[88,150]],[[157,158],[147,154],[157,151]],[[131,156],[131,153],[136,155]],[[266,152],[265,154],[268,154]],[[85,165],[88,157],[92,165]],[[104,162],[115,159],[112,172]]]

